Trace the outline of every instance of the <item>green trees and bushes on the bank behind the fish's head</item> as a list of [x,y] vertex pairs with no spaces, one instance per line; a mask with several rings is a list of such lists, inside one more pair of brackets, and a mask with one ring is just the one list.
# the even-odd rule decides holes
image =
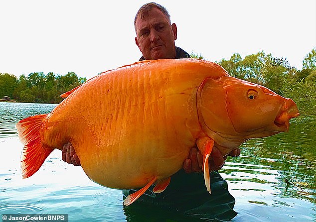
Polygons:
[[[203,58],[191,53],[191,57]],[[263,51],[243,59],[234,53],[229,60],[216,61],[233,77],[266,86],[296,102],[302,115],[316,115],[316,48],[303,60],[302,70],[292,67],[287,58],[275,58]]]

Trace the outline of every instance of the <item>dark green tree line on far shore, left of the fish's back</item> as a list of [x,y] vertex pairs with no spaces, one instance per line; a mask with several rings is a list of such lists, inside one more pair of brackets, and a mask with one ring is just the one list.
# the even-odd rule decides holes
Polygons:
[[26,103],[60,103],[61,94],[83,84],[86,78],[78,78],[74,72],[56,75],[49,72],[30,73],[19,78],[12,74],[0,73],[0,99],[8,96],[18,102]]

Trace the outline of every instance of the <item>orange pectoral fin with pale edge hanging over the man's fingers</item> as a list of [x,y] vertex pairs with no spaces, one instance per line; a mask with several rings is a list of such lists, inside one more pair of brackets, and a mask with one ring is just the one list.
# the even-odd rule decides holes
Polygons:
[[203,175],[204,175],[204,181],[205,181],[205,186],[207,188],[207,191],[211,194],[208,161],[209,161],[209,156],[211,155],[211,152],[213,150],[214,140],[209,137],[204,137],[204,138],[198,139],[196,144],[197,144],[198,149],[203,154],[202,170],[203,170]]

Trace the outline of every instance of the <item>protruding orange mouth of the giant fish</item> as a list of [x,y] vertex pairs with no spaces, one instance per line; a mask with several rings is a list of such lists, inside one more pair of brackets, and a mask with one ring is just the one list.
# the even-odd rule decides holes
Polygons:
[[299,116],[299,110],[293,100],[288,99],[274,120],[277,130],[287,132],[290,128],[290,119]]

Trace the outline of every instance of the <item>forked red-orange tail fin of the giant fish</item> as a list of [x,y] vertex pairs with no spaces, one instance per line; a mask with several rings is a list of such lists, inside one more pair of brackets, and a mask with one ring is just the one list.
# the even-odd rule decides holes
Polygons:
[[18,136],[24,144],[20,161],[22,178],[32,176],[54,150],[44,144],[40,137],[41,124],[46,116],[47,114],[34,115],[16,123]]

